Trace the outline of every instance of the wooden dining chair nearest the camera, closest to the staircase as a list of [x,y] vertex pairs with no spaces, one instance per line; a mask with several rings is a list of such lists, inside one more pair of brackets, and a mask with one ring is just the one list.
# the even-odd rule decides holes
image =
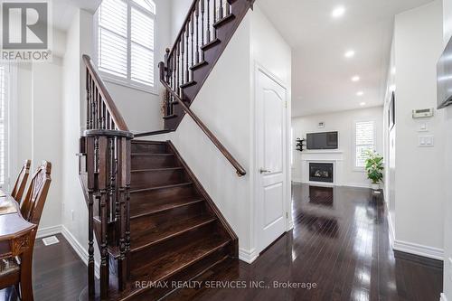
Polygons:
[[51,172],[52,164],[46,161],[42,162],[42,165],[33,174],[24,202],[21,205],[23,218],[35,225],[33,230],[25,234],[29,237],[30,249],[23,256],[0,259],[0,288],[5,288],[6,285],[7,287],[16,287],[21,300],[33,300],[31,279],[33,247],[44,203],[52,182]]

